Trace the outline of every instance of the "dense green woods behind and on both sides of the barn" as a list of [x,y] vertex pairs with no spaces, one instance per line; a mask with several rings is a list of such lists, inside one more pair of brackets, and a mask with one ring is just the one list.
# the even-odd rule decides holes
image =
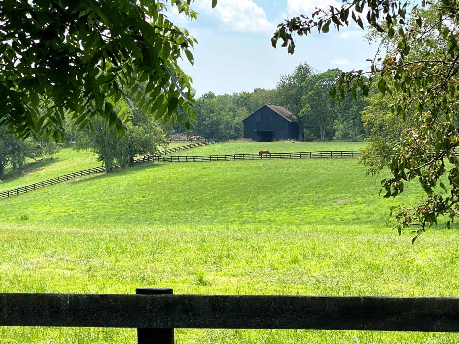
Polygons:
[[[265,104],[281,105],[299,118],[299,139],[363,139],[367,132],[362,122],[362,111],[368,100],[351,94],[337,104],[329,96],[342,71],[313,70],[307,63],[298,65],[293,72],[281,75],[274,89],[254,89],[215,95],[207,92],[196,101],[196,123],[191,134],[205,138],[236,138],[243,136],[242,120]],[[175,125],[177,133],[185,131]]]

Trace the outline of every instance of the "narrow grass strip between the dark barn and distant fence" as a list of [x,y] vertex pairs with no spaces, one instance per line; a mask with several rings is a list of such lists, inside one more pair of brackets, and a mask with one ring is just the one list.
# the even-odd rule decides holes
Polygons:
[[287,152],[317,152],[330,150],[358,150],[364,147],[364,142],[224,142],[209,144],[182,150],[171,155],[229,155],[229,154],[257,154],[260,150],[269,150],[271,153]]

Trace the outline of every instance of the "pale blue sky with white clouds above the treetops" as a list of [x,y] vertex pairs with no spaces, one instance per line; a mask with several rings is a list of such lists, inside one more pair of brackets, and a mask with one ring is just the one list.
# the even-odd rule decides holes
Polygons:
[[[196,96],[212,91],[231,94],[272,89],[281,74],[292,72],[307,62],[319,71],[341,68],[344,71],[365,69],[366,59],[377,50],[375,43],[364,40],[364,31],[352,22],[348,28],[297,36],[293,55],[286,48],[271,46],[277,24],[300,14],[311,15],[315,7],[334,5],[335,0],[218,0],[212,9],[211,0],[195,0],[197,20],[189,21],[183,14],[169,10],[174,24],[187,28],[198,44],[193,51],[194,67],[186,60],[180,65],[194,78]],[[365,22],[366,20],[364,20]]]

